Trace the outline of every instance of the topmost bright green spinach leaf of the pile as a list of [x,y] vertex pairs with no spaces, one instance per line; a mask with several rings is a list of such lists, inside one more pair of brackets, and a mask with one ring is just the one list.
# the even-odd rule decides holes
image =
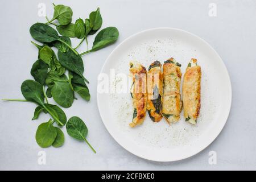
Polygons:
[[53,18],[49,21],[49,23],[57,19],[61,25],[69,24],[72,20],[72,15],[73,11],[69,6],[54,6]]

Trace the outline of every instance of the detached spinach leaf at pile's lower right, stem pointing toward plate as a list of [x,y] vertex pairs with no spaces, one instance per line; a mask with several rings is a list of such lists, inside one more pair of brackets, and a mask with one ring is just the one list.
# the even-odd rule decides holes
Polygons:
[[76,116],[68,119],[66,129],[67,129],[67,133],[69,134],[69,136],[71,136],[77,140],[84,140],[89,145],[89,147],[93,150],[93,152],[96,153],[94,148],[86,140],[86,136],[88,134],[88,129],[87,129],[85,123],[82,121],[82,119],[80,119],[79,117],[76,117]]

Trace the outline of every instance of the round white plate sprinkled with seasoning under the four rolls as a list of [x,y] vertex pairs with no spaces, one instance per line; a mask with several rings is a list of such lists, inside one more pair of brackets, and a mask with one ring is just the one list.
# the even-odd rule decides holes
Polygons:
[[[126,93],[117,93],[113,89],[109,89],[109,93],[97,91],[98,109],[110,135],[134,155],[159,162],[189,158],[220,134],[232,100],[229,74],[221,57],[207,42],[187,31],[154,28],[124,40],[110,53],[101,69],[109,80],[113,80],[110,72],[115,73],[117,77],[110,81],[109,87],[113,84],[118,88],[122,81],[128,82],[126,76],[131,60],[139,61],[148,69],[152,61],[163,64],[170,57],[182,65],[183,75],[192,57],[201,66],[201,110],[196,126],[185,122],[182,111],[179,122],[172,125],[164,119],[159,123],[152,122],[147,114],[141,126],[130,128],[133,105],[129,86]],[[98,81],[99,88],[104,88],[102,78]]]

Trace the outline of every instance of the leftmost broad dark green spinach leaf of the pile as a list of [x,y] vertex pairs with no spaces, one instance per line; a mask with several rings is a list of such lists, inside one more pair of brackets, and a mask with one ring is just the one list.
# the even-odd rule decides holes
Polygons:
[[34,80],[25,80],[21,85],[21,92],[28,101],[35,102],[40,106],[44,105],[43,87]]

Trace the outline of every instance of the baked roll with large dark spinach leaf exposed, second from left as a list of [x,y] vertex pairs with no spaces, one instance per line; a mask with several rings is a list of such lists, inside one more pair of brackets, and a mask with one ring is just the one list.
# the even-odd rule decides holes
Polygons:
[[161,107],[163,98],[162,64],[154,61],[147,72],[147,111],[151,120],[159,122],[162,119]]

